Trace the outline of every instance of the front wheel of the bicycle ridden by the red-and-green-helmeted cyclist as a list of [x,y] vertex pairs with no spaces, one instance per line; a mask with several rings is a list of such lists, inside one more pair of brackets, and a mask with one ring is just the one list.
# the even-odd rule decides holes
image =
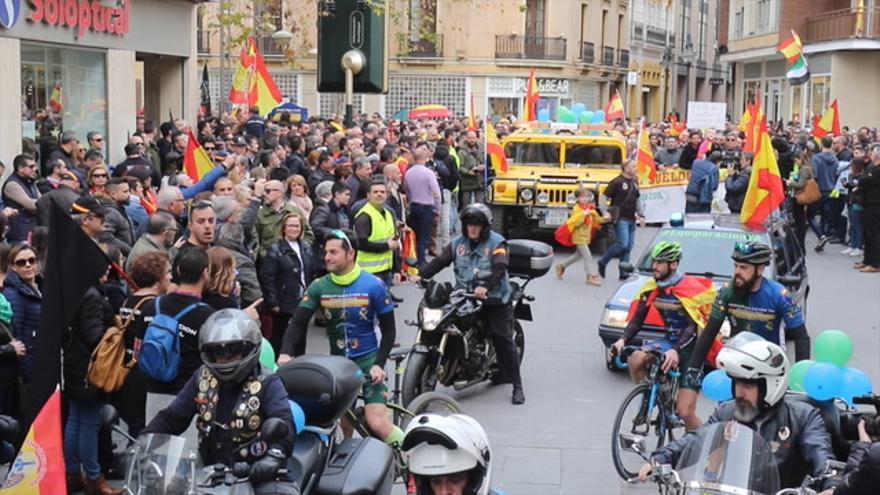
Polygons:
[[[614,419],[614,429],[611,432],[611,458],[614,461],[614,469],[624,481],[634,478],[639,474],[639,468],[645,460],[634,452],[628,452],[620,448],[621,434],[639,435],[646,439],[646,448],[650,454],[663,446],[664,438],[656,436],[657,424],[660,418],[660,408],[655,404],[651,411],[643,414],[642,409],[647,408],[651,397],[651,385],[642,383],[636,386],[623,399]],[[654,436],[651,436],[651,435]]]

